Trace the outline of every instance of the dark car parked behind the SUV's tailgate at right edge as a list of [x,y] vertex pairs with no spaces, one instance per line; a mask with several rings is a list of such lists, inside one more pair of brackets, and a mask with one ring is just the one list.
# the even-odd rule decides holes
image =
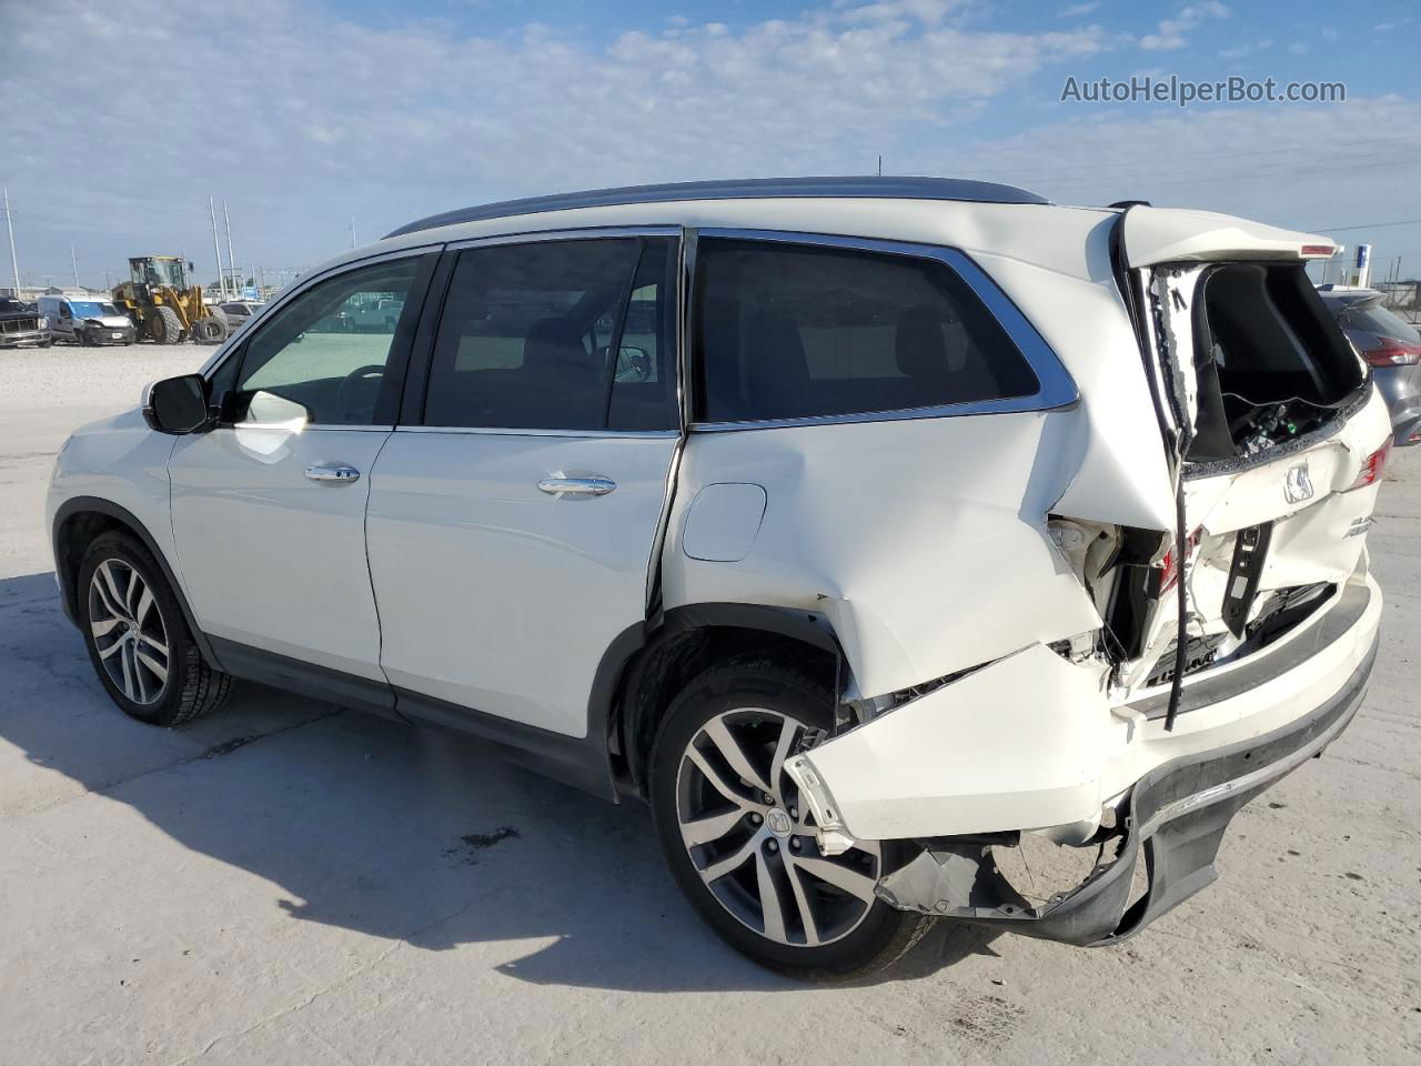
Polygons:
[[1361,357],[1391,409],[1393,441],[1421,442],[1421,333],[1383,304],[1376,289],[1319,290]]

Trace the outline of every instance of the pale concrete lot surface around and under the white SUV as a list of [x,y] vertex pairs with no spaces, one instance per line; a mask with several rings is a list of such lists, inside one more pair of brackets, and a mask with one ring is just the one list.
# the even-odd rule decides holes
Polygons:
[[0,1063],[1421,1062],[1421,456],[1371,533],[1367,702],[1212,888],[1114,949],[939,925],[810,988],[696,921],[638,806],[254,687],[180,731],[109,704],[44,485],[206,352],[0,352]]

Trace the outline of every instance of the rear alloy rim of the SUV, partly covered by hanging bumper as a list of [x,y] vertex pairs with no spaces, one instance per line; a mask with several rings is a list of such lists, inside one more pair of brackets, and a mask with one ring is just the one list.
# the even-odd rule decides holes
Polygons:
[[706,722],[676,770],[676,817],[692,866],[739,922],[776,944],[821,947],[868,917],[882,876],[877,843],[824,856],[784,760],[806,723],[737,708]]

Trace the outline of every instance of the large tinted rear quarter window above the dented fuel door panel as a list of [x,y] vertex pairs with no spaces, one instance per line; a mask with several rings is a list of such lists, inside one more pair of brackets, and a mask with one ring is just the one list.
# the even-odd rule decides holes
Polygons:
[[702,422],[870,414],[1029,397],[1039,382],[938,259],[702,237]]

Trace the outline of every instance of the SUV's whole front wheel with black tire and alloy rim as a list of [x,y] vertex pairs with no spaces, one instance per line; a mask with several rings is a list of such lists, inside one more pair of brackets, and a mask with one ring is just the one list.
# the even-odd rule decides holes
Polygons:
[[80,564],[77,596],[90,661],[124,714],[172,726],[226,702],[230,675],[202,658],[178,597],[138,540],[95,537]]

